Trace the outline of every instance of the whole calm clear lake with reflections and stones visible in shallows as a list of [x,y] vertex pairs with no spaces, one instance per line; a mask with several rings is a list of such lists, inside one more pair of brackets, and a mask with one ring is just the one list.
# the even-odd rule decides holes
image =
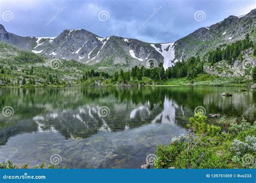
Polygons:
[[[187,121],[199,106],[205,108],[206,115],[244,114],[253,122],[256,91],[248,88],[239,93],[237,89],[0,88],[0,161],[10,159],[31,166],[57,162],[69,168],[139,168],[148,154],[156,152],[157,145],[186,134]],[[233,96],[221,96],[224,91]],[[3,110],[8,106],[13,109],[11,114]]]

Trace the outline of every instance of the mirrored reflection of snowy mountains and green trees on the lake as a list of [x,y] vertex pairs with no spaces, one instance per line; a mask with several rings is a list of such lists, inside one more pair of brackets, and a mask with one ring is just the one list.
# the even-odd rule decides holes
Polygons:
[[[222,97],[225,91],[232,97]],[[146,124],[184,126],[197,106],[207,114],[242,115],[256,103],[255,92],[235,87],[67,87],[1,89],[1,108],[14,115],[0,117],[0,143],[19,133],[59,132],[66,139],[83,139],[101,131],[122,131]],[[99,114],[107,107],[109,114]],[[246,116],[254,120],[255,109]]]

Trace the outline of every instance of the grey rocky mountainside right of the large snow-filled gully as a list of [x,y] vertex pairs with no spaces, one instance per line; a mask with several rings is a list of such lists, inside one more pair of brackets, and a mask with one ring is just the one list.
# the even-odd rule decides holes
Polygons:
[[174,45],[176,58],[184,59],[196,54],[205,54],[224,43],[233,43],[245,38],[248,33],[256,41],[256,9],[245,16],[229,16],[223,21],[209,27],[202,27],[188,36],[179,39]]

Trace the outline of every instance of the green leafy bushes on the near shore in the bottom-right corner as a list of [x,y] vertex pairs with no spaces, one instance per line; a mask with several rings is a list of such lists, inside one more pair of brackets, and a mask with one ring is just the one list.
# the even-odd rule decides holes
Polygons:
[[154,168],[256,168],[255,122],[233,121],[223,131],[205,120],[205,116],[195,114],[190,118],[187,136],[158,146]]

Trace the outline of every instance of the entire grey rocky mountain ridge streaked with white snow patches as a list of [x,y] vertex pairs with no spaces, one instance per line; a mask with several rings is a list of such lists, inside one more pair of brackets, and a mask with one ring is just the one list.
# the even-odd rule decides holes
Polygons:
[[[164,62],[164,68],[196,54],[203,55],[220,44],[243,39],[247,33],[256,40],[256,9],[245,16],[230,16],[222,22],[202,27],[173,43],[150,44],[122,37],[102,38],[89,31],[64,30],[57,37],[21,37],[0,25],[0,41],[11,43],[49,58],[76,60],[88,65],[123,65],[124,68],[146,66],[148,59]],[[106,60],[108,60],[106,62]],[[105,63],[105,64],[104,64]],[[106,64],[107,63],[107,64]]]

